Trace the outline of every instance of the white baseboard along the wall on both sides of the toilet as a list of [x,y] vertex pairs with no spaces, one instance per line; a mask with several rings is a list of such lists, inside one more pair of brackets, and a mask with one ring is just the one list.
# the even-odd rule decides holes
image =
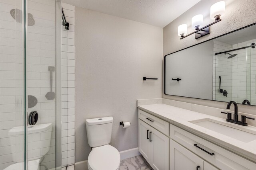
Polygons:
[[[138,148],[123,150],[119,153],[120,153],[121,160],[140,155]],[[75,170],[88,170],[87,162],[88,162],[88,160],[76,162]]]

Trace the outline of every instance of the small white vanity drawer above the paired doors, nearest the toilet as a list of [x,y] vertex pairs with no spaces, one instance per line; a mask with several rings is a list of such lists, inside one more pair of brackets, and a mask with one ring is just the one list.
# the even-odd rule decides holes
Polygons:
[[169,136],[169,125],[170,123],[159,119],[158,117],[146,113],[139,109],[139,119],[143,120],[144,122],[148,123],[150,126],[154,127],[158,131],[164,133],[165,135]]

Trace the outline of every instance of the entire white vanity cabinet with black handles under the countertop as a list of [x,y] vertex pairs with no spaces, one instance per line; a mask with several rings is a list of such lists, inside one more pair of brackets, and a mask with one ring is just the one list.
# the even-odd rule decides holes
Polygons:
[[[154,170],[256,170],[256,164],[202,137],[186,126],[139,109],[139,151]],[[156,114],[157,115],[157,114]],[[169,118],[170,119],[170,118]],[[166,119],[168,120],[168,119]]]

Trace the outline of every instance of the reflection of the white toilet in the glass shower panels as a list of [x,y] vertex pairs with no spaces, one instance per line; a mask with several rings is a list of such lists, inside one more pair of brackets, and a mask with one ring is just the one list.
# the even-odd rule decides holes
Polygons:
[[[12,160],[16,162],[6,167],[4,170],[23,170],[24,169],[24,126],[13,127],[8,131],[10,138],[15,138],[15,145],[12,145],[11,150]],[[40,169],[40,163],[44,159],[44,155],[50,150],[52,136],[52,123],[40,125],[28,125],[27,141],[28,155],[27,166],[28,170]],[[40,152],[37,152],[37,150]]]

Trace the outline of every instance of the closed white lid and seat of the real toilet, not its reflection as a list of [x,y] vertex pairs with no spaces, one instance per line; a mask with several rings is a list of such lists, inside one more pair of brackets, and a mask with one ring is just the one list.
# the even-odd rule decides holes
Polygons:
[[118,170],[120,154],[110,145],[92,148],[88,156],[88,168],[90,170]]

